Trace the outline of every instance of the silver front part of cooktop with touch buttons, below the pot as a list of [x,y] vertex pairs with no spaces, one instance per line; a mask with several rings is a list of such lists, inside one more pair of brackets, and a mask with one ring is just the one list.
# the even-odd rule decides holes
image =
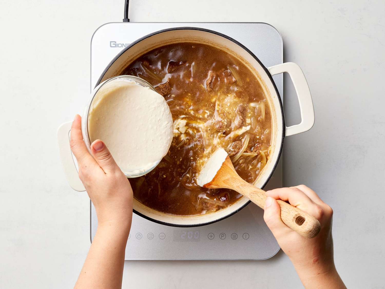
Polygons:
[[151,259],[257,259],[251,258],[256,255],[266,259],[279,249],[263,221],[263,210],[252,203],[203,227],[169,227],[143,218],[138,223],[139,218],[134,214],[126,259],[142,259],[147,254]]

